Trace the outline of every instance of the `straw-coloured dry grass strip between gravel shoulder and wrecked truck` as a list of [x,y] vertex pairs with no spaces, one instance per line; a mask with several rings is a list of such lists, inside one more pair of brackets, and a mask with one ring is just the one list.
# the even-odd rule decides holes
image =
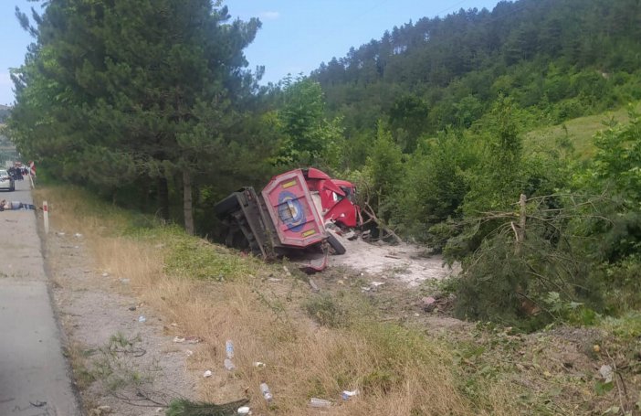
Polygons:
[[[40,188],[36,197],[48,200],[53,229],[84,234],[98,270],[129,278],[142,301],[178,324],[177,334],[204,339],[191,366],[213,368],[215,378],[203,379],[200,400],[223,402],[247,394],[255,413],[282,415],[318,414],[308,406],[311,397],[335,401],[323,413],[331,415],[519,411],[508,381],[488,379],[487,385],[470,390],[451,347],[418,331],[377,322],[358,294],[342,297],[350,317],[345,325],[317,325],[303,313],[302,304],[310,298],[307,286],[278,275],[277,268],[241,259],[172,228],[129,232],[131,220],[125,213],[94,204],[78,190]],[[201,275],[191,267],[193,261],[176,259],[176,252],[183,251],[183,259],[193,255],[203,267],[217,264],[224,279],[212,271]],[[282,281],[270,282],[268,276]],[[236,346],[234,374],[222,366],[226,339]],[[255,361],[267,367],[256,368]],[[263,381],[275,398],[269,409],[258,389]],[[343,402],[343,389],[362,394]]]

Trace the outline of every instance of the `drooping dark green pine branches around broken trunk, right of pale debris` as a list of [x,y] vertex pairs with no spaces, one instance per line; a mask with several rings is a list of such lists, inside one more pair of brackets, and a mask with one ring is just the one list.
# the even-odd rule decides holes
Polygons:
[[579,220],[581,206],[563,206],[551,210],[550,203],[532,200],[523,241],[515,236],[519,214],[496,215],[496,228],[464,263],[457,315],[528,331],[552,322],[594,325],[600,284],[590,278],[591,264],[567,220]]

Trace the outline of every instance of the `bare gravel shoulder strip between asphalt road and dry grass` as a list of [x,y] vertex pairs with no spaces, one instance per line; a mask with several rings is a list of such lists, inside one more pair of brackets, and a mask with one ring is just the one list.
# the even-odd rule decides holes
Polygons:
[[140,304],[126,276],[95,270],[81,235],[53,230],[46,250],[85,411],[157,415],[173,398],[194,398],[187,361],[199,346],[165,335],[178,328]]

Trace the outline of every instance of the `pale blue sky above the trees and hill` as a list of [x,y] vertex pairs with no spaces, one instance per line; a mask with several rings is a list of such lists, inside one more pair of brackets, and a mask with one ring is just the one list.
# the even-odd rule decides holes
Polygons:
[[[491,10],[499,0],[225,0],[229,14],[258,17],[262,27],[245,50],[249,68],[265,66],[261,83],[278,82],[288,74],[309,75],[321,62],[344,57],[385,30],[421,17],[447,16],[458,9]],[[27,0],[0,0],[0,104],[14,101],[9,69],[25,60],[33,39],[20,27],[16,5],[23,11],[39,5]]]

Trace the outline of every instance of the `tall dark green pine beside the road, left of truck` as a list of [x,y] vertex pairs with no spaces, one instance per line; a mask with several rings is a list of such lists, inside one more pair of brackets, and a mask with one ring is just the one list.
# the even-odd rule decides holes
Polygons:
[[[49,3],[15,77],[18,144],[94,185],[155,180],[165,219],[177,178],[194,232],[192,176],[232,145],[226,129],[253,85],[242,50],[260,23],[229,20],[210,0]],[[46,121],[47,135],[29,133],[21,114]]]

